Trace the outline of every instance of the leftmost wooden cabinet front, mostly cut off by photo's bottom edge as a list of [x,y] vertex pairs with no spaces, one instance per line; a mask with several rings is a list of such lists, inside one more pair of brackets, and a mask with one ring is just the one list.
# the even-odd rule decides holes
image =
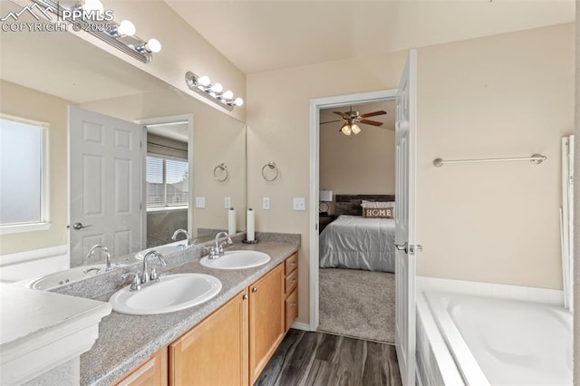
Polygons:
[[116,381],[116,386],[167,386],[167,347],[155,352],[145,362]]

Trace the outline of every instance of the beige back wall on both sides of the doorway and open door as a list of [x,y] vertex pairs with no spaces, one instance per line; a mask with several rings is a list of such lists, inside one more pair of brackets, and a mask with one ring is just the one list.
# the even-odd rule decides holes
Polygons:
[[[418,274],[559,288],[559,139],[572,132],[571,24],[419,50]],[[299,321],[308,322],[309,101],[396,88],[407,53],[322,63],[247,78],[248,204],[256,228],[302,236]],[[273,98],[275,95],[275,98]],[[431,161],[516,157],[527,163]],[[281,176],[260,169],[274,160]],[[467,170],[467,172],[465,171]],[[261,207],[262,197],[272,209]]]

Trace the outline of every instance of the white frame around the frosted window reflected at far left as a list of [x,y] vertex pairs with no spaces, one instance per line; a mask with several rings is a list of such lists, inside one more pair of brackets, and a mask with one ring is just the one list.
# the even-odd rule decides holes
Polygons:
[[47,230],[51,227],[50,223],[50,174],[49,174],[49,133],[50,125],[47,122],[33,121],[14,115],[4,114],[0,112],[0,119],[6,121],[14,121],[40,127],[42,130],[42,154],[41,154],[41,218],[39,222],[28,224],[10,224],[0,225],[0,235],[7,235],[11,233],[33,232],[38,230]]

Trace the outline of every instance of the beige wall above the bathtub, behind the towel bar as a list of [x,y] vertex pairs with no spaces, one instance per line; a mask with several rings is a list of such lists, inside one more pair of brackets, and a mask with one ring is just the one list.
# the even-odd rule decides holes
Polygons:
[[[421,49],[418,275],[562,288],[561,137],[574,131],[574,34],[561,24]],[[432,160],[524,157],[445,165]]]

